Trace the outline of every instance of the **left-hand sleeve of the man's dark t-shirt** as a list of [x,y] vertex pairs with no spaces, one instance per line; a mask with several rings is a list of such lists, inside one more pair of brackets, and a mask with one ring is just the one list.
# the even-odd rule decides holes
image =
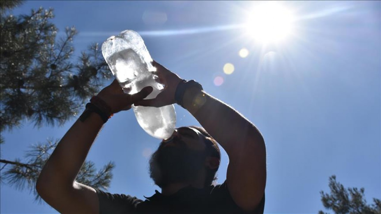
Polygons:
[[111,194],[95,189],[99,200],[99,214],[136,213],[142,200],[124,194]]

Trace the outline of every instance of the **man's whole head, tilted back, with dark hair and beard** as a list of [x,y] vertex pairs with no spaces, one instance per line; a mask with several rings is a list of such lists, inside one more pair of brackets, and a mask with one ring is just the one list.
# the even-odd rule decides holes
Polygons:
[[150,158],[150,177],[163,188],[168,184],[192,182],[205,170],[204,186],[216,180],[221,154],[205,129],[187,126],[175,129]]

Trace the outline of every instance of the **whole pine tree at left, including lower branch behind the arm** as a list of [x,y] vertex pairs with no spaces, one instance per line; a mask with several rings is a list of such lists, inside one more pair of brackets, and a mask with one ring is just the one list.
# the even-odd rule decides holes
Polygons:
[[[74,61],[72,41],[77,30],[67,27],[58,38],[58,29],[51,22],[53,9],[13,16],[11,9],[21,4],[19,0],[0,1],[0,144],[5,142],[4,131],[23,123],[32,122],[38,128],[78,117],[85,102],[112,76],[98,44]],[[16,142],[7,143],[17,146]],[[31,146],[23,158],[0,159],[1,182],[29,188],[38,199],[35,182],[57,143],[50,139]],[[85,161],[77,181],[106,190],[114,166],[110,162],[96,172],[94,163]]]

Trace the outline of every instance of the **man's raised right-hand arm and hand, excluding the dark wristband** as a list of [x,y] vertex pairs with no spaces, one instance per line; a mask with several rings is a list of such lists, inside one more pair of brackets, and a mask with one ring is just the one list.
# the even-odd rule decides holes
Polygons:
[[[160,107],[175,103],[174,94],[181,78],[157,62],[152,64],[165,90],[155,99],[135,105]],[[203,105],[194,105],[193,98],[200,93]],[[186,91],[183,105],[229,155],[227,187],[235,203],[245,210],[254,209],[266,185],[266,148],[261,133],[240,113],[198,89]]]

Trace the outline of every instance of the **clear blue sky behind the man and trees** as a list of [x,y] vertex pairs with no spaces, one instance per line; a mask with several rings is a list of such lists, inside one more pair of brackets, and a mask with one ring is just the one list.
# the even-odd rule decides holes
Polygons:
[[[237,28],[250,1],[27,1],[14,14],[54,8],[61,31],[75,26],[78,55],[125,29],[142,34],[153,59],[255,123],[267,148],[266,213],[316,213],[320,190],[335,174],[346,187],[364,187],[368,202],[381,198],[381,3],[283,2],[293,11],[292,35],[263,45]],[[154,19],[152,19],[152,17]],[[246,48],[249,55],[239,56]],[[223,72],[226,63],[234,72]],[[216,77],[223,83],[215,85]],[[221,82],[220,82],[221,83]],[[177,126],[199,125],[176,106]],[[26,122],[5,133],[2,158],[21,157],[30,144],[61,138],[74,122],[33,128]],[[223,119],[223,118],[221,118]],[[146,134],[132,111],[110,119],[88,155],[99,168],[116,163],[109,192],[142,198],[155,189],[146,153],[159,141]],[[143,152],[144,151],[144,152]],[[226,178],[222,153],[218,182]],[[1,184],[1,213],[53,213],[34,196]]]

